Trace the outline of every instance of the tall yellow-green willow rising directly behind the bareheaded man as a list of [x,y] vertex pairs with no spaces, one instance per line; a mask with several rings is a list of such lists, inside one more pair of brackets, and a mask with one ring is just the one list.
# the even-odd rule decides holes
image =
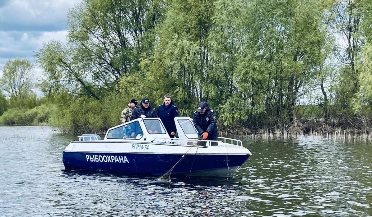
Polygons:
[[[209,77],[209,41],[214,5],[211,1],[174,0],[166,5],[159,25],[154,55],[142,67],[152,94],[169,92],[182,112],[189,114],[199,100],[208,100],[205,84]],[[186,110],[189,110],[186,112]]]

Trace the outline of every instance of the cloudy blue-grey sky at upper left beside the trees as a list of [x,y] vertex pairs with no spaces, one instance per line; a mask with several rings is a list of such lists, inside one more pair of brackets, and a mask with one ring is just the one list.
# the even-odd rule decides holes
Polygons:
[[[16,57],[29,59],[43,42],[66,42],[67,13],[81,0],[0,0],[0,77]],[[40,71],[40,69],[35,69]]]

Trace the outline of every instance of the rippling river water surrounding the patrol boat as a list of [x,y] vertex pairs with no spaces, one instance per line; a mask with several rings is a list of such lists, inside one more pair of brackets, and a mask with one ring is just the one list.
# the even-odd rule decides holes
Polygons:
[[372,144],[314,136],[239,138],[252,156],[232,178],[64,171],[76,136],[0,126],[0,216],[371,216]]

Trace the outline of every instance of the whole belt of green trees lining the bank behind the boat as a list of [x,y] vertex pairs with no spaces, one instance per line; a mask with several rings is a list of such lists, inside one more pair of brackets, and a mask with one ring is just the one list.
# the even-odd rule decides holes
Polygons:
[[83,0],[68,43],[35,54],[45,97],[14,103],[34,96],[10,94],[15,61],[4,66],[0,122],[36,106],[63,132],[104,132],[132,98],[157,108],[169,93],[182,116],[208,101],[226,133],[369,130],[371,10],[371,0]]

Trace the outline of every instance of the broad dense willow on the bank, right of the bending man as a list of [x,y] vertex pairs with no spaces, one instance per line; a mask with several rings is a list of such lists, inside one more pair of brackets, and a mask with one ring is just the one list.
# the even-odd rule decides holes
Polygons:
[[[240,91],[262,103],[264,125],[297,119],[301,91],[316,75],[326,32],[322,1],[253,1],[246,13]],[[254,105],[254,104],[253,104]]]

